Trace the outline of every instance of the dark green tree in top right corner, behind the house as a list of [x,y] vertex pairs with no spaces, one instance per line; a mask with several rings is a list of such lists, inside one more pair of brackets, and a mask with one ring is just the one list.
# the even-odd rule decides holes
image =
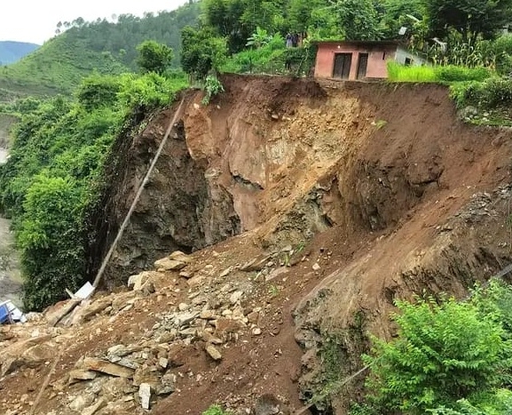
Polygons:
[[492,38],[512,20],[512,0],[423,0],[432,36],[445,37],[451,29],[464,42]]

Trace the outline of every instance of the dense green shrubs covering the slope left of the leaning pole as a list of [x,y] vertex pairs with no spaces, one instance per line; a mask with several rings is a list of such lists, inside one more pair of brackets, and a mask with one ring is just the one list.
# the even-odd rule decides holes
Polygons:
[[85,218],[115,137],[133,111],[169,105],[185,77],[86,78],[75,100],[21,100],[11,157],[0,166],[0,208],[14,219],[25,307],[42,309],[86,276]]

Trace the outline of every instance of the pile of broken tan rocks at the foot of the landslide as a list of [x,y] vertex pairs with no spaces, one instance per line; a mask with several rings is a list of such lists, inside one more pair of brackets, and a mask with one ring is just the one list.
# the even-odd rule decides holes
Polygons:
[[[167,307],[152,315],[154,324],[143,336],[130,343],[102,340],[105,349],[79,356],[73,367],[50,384],[50,399],[57,399],[61,408],[53,415],[143,413],[179,390],[185,376],[204,378],[205,373],[184,367],[190,355],[204,355],[215,369],[235,342],[263,335],[268,307],[255,306],[258,283],[288,278],[289,267],[305,258],[299,252],[295,259],[294,254],[296,250],[288,246],[222,270],[194,264],[193,256],[173,252],[154,263],[156,271],[131,275],[130,291],[82,301],[69,299],[32,315],[32,323],[25,327],[2,328],[0,341],[6,347],[0,352],[0,382],[22,369],[50,366],[56,350],[75,341],[73,330],[87,327],[102,336],[122,316],[146,310],[150,299],[161,303],[167,299]],[[214,251],[212,256],[218,254]],[[184,283],[188,290],[177,288]],[[23,408],[31,404],[32,396],[18,402],[4,400],[10,415],[24,413]]]

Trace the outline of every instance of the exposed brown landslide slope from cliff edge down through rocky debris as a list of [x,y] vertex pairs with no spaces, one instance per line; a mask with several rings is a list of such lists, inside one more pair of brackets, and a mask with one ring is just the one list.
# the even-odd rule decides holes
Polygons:
[[[508,264],[512,134],[461,124],[444,87],[223,82],[208,108],[201,92],[185,95],[107,276],[124,282],[170,251],[199,251],[177,254],[181,265],[158,262],[135,278],[135,291],[79,306],[71,327],[48,327],[51,310],[2,331],[0,411],[143,413],[138,387],[148,383],[156,414],[200,414],[213,402],[236,413],[276,413],[264,403],[298,413],[299,397],[320,398],[312,413],[343,414],[361,379],[323,397],[333,375],[322,364],[326,347],[336,376],[357,371],[367,333],[393,334],[393,299],[423,290],[462,297]],[[173,111],[118,143],[97,253]],[[130,371],[95,370],[68,384],[92,377],[84,356]]]

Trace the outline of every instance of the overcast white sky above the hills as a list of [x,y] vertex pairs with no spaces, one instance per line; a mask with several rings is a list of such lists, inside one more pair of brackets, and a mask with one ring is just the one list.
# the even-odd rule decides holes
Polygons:
[[43,44],[59,21],[174,10],[186,0],[0,0],[0,41]]

